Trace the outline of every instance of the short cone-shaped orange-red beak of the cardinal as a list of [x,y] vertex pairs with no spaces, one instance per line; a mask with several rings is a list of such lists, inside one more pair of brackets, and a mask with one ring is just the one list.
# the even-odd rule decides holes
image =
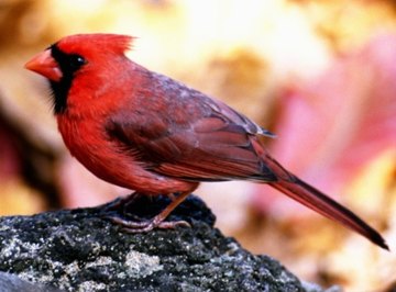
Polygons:
[[59,65],[51,56],[50,49],[34,56],[25,64],[24,67],[48,78],[52,81],[59,81],[63,76]]

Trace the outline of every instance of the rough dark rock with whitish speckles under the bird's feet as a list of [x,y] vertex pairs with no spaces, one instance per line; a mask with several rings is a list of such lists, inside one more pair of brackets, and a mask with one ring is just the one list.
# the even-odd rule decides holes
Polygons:
[[[167,203],[162,196],[140,198],[129,212],[146,218]],[[130,234],[107,218],[118,210],[103,210],[1,217],[0,271],[64,291],[322,291],[224,237],[195,196],[169,217],[188,221],[191,228]],[[8,291],[2,287],[0,278],[0,291]]]

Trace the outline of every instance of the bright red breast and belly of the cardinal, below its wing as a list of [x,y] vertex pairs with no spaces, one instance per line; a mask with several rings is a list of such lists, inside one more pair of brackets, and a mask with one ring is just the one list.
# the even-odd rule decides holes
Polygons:
[[188,191],[197,186],[147,170],[143,161],[110,141],[94,123],[58,125],[70,154],[102,180],[146,194]]

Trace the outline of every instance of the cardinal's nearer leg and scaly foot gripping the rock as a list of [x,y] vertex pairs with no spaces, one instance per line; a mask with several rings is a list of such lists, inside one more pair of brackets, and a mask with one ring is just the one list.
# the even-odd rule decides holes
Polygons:
[[154,228],[175,228],[176,226],[187,226],[190,225],[186,221],[173,221],[173,222],[164,222],[165,218],[174,211],[187,196],[189,192],[183,192],[178,196],[174,196],[170,204],[168,204],[158,215],[148,221],[129,221],[123,220],[119,216],[111,216],[112,222],[120,224],[123,226],[123,229],[129,233],[142,233],[148,232]]

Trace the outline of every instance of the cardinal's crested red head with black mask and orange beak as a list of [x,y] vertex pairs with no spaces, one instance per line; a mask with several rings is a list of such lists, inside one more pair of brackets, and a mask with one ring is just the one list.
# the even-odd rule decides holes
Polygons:
[[86,82],[96,86],[95,78],[110,78],[117,58],[124,59],[132,36],[119,34],[76,34],[66,36],[34,56],[25,68],[50,80],[55,113],[66,109],[67,96],[78,75],[89,76]]

